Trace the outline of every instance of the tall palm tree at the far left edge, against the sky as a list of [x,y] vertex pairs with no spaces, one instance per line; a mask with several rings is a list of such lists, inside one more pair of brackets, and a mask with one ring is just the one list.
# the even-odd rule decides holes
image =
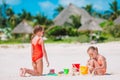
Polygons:
[[14,28],[17,24],[17,17],[14,14],[14,11],[6,2],[3,0],[1,6],[0,6],[0,27],[12,27]]

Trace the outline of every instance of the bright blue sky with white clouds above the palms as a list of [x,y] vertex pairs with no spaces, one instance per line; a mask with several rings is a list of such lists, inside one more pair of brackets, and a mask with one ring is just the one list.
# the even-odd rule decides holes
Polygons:
[[[109,3],[114,0],[6,0],[15,13],[21,13],[22,9],[30,12],[32,15],[42,13],[52,19],[54,9],[59,5],[66,7],[69,3],[73,3],[78,7],[84,7],[87,4],[92,4],[93,8],[98,11],[109,10]],[[117,0],[120,4],[120,0]],[[0,0],[2,4],[2,0]],[[119,5],[120,7],[120,5]]]

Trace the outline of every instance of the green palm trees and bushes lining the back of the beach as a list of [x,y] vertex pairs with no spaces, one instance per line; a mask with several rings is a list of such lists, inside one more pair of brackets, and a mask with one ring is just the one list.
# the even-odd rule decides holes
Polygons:
[[[88,4],[83,7],[91,16],[97,18],[106,19],[105,22],[99,24],[102,28],[100,33],[99,42],[111,41],[111,40],[120,40],[120,24],[114,24],[114,20],[120,16],[120,9],[118,8],[118,2],[114,0],[110,6],[110,11],[104,11],[103,13],[97,12],[93,9],[92,4]],[[59,13],[64,9],[62,5],[59,5],[55,9],[55,14],[53,16],[59,15]],[[69,17],[72,23],[65,23],[63,26],[54,26],[53,21],[48,19],[44,14],[37,14],[35,16],[31,15],[30,12],[27,12],[25,9],[22,10],[22,13],[15,14],[13,9],[7,5],[4,0],[3,4],[0,4],[0,34],[4,33],[9,38],[8,41],[1,41],[1,43],[21,42],[20,39],[15,39],[12,34],[12,30],[17,24],[21,21],[26,20],[31,26],[36,24],[42,25],[45,28],[45,36],[48,38],[47,42],[89,42],[89,32],[79,32],[78,28],[81,26],[81,16],[71,15]],[[17,35],[22,37],[21,35]],[[29,40],[28,40],[29,41]]]

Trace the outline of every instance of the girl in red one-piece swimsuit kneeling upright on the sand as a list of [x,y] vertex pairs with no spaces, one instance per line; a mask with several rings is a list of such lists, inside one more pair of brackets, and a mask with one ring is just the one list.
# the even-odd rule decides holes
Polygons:
[[47,58],[47,53],[44,47],[44,41],[42,39],[43,29],[40,26],[36,26],[34,31],[34,37],[31,40],[32,44],[32,66],[33,70],[27,68],[20,69],[20,76],[24,77],[26,73],[32,76],[41,76],[43,73],[43,56],[46,59],[47,66],[49,66],[49,61]]

